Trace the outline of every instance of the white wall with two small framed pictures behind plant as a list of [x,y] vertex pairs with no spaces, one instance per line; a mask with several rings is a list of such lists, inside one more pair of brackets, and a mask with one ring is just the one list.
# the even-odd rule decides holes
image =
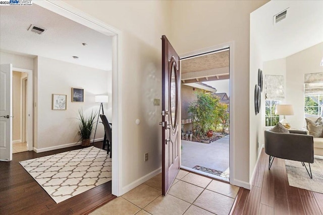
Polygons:
[[[97,111],[95,95],[109,95],[112,99],[111,71],[94,69],[73,63],[38,56],[35,73],[35,124],[34,147],[37,152],[76,143],[78,135],[78,109],[85,115]],[[72,88],[84,89],[84,102],[72,101]],[[52,110],[52,94],[67,95],[67,110]],[[103,104],[104,114],[111,121],[112,104]],[[98,124],[95,139],[103,138],[104,128]],[[93,137],[93,134],[92,134]],[[70,145],[69,145],[70,146]]]

